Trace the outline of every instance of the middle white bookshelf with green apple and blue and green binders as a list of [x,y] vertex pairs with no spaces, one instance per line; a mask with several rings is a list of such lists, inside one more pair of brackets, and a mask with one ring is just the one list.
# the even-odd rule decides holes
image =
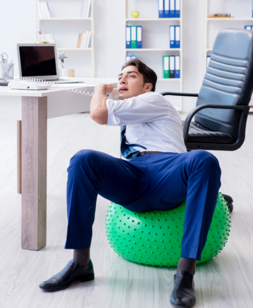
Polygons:
[[[136,55],[157,74],[155,92],[182,92],[182,5],[180,1],[180,18],[158,18],[158,0],[124,0],[124,31],[126,42],[126,25],[142,25],[142,47],[126,48],[126,55]],[[139,18],[131,18],[132,11],[139,11]],[[180,25],[180,48],[169,48],[169,26]],[[125,43],[126,46],[126,43]],[[180,55],[181,78],[163,78],[163,55]],[[182,111],[182,97],[169,96],[169,100],[178,112]]]

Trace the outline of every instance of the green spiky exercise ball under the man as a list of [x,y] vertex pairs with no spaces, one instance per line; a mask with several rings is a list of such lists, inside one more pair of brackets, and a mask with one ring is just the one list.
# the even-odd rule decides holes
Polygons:
[[[184,201],[170,211],[134,213],[111,203],[106,215],[106,233],[114,251],[136,263],[177,266],[183,237]],[[197,263],[216,256],[225,246],[230,232],[230,213],[219,192],[207,242]]]

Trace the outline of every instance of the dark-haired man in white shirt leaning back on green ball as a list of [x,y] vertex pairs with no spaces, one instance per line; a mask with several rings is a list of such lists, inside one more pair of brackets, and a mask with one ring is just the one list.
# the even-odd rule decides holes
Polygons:
[[94,279],[89,247],[96,199],[104,198],[134,212],[170,210],[187,199],[181,259],[171,304],[195,304],[193,275],[201,259],[220,188],[220,167],[209,152],[187,152],[181,119],[162,95],[154,93],[157,76],[138,59],[119,74],[119,100],[107,99],[111,85],[95,88],[91,118],[101,125],[122,126],[121,153],[125,160],[82,150],[70,160],[67,181],[68,228],[65,248],[73,260],[42,290],[56,291],[74,281]]

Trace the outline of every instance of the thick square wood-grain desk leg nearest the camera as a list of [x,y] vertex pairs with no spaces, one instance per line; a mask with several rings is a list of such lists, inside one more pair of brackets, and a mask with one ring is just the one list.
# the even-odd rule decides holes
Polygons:
[[22,97],[21,247],[46,245],[47,97]]

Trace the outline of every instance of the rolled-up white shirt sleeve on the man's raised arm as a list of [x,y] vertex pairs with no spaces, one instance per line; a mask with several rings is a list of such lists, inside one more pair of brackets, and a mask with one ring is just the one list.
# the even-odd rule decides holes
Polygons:
[[154,92],[148,92],[124,100],[106,100],[108,122],[106,126],[123,126],[152,122],[169,117],[167,99]]

